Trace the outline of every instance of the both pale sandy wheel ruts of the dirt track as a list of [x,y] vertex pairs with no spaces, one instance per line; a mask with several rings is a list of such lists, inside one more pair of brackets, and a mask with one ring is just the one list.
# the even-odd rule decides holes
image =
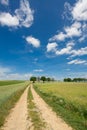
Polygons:
[[[11,110],[2,130],[33,130],[31,127],[32,123],[27,119],[28,88],[24,91],[15,107]],[[40,116],[44,119],[44,122],[46,122],[45,130],[72,130],[72,128],[69,127],[60,117],[57,117],[56,113],[53,112],[44,100],[35,92],[32,85],[31,91],[34,97],[33,101],[41,114]]]

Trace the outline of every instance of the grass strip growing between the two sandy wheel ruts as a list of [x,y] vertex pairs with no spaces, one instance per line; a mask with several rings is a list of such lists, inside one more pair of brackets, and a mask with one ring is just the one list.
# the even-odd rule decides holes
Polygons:
[[30,87],[28,91],[28,113],[28,118],[30,118],[32,122],[31,127],[33,127],[34,130],[43,130],[45,128],[45,122],[43,121],[43,119],[41,119],[40,112],[35,106]]

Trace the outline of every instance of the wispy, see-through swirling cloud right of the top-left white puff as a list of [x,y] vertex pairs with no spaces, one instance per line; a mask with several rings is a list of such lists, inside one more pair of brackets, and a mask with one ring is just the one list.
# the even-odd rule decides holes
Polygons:
[[20,25],[24,27],[30,27],[33,23],[33,11],[30,8],[28,0],[20,1],[20,8],[15,10],[16,17],[18,18]]

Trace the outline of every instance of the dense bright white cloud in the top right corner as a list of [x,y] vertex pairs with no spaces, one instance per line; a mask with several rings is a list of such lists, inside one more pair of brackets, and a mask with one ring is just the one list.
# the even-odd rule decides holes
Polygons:
[[87,21],[87,0],[78,0],[72,9],[73,19]]

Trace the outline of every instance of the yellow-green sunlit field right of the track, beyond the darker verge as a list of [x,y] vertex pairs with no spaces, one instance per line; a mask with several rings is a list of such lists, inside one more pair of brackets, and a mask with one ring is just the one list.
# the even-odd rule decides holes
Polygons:
[[87,83],[39,83],[40,90],[66,100],[87,105]]

